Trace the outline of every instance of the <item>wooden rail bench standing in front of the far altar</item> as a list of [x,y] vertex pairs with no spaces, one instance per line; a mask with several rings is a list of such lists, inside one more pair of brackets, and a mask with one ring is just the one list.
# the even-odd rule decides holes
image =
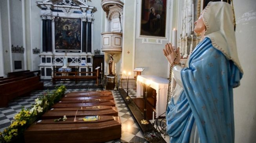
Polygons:
[[[86,75],[91,74],[91,75]],[[66,80],[75,80],[76,84],[79,80],[96,80],[96,84],[98,84],[98,70],[93,72],[86,71],[71,71],[71,72],[58,72],[54,71],[53,73],[53,84],[56,84],[56,81],[66,81]]]

